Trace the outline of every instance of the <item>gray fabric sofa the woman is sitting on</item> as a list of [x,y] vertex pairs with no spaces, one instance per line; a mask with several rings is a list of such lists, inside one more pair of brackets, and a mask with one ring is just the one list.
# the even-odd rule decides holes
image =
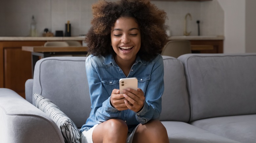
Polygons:
[[[86,57],[48,57],[26,82],[26,100],[0,88],[0,142],[64,143],[33,93],[50,99],[80,128],[91,111]],[[163,56],[160,120],[171,143],[256,142],[256,53]]]

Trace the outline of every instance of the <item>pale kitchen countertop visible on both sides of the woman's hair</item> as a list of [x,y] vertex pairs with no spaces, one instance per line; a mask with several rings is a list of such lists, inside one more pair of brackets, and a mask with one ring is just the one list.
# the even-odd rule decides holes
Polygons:
[[[0,41],[55,41],[55,40],[84,40],[77,37],[0,37]],[[171,36],[168,40],[224,40],[224,36]]]

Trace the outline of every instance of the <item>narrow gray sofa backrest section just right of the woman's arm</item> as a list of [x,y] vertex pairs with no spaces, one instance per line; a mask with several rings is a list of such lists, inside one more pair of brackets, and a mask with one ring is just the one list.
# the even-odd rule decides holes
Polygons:
[[163,56],[164,92],[160,120],[189,121],[189,103],[184,68],[176,58]]

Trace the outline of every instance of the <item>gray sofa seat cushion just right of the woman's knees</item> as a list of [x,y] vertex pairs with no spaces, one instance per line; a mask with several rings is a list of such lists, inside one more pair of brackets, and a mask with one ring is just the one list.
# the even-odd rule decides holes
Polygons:
[[239,143],[179,121],[161,121],[171,143]]

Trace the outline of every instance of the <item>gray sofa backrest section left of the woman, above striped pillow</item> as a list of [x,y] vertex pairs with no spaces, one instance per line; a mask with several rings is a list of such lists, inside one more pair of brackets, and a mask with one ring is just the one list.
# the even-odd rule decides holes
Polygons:
[[[91,100],[85,70],[86,57],[48,57],[37,61],[33,93],[56,104],[81,128],[90,115]],[[34,99],[32,103],[35,104]]]

